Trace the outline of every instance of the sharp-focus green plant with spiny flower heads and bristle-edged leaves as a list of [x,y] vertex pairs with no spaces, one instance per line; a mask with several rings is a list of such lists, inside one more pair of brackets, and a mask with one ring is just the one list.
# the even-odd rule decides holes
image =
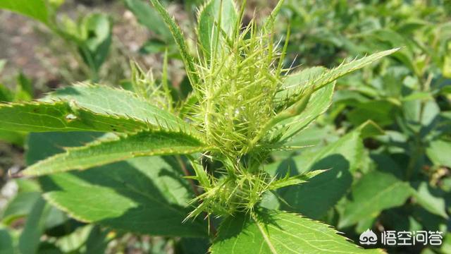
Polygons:
[[344,171],[348,156],[339,147],[372,135],[372,123],[312,157],[302,174],[275,174],[268,155],[297,149],[287,141],[326,111],[335,80],[397,49],[295,72],[283,68],[288,40],[280,49],[273,37],[283,1],[259,29],[253,20],[242,28],[245,3],[212,0],[199,11],[192,56],[178,25],[151,1],[193,92],[175,103],[166,78],[157,86],[137,71],[134,92],[84,83],[37,102],[1,104],[1,129],[44,133],[30,136],[30,167],[16,176],[42,176],[44,198],[76,219],[143,234],[211,237],[212,253],[381,252],[358,248],[321,222],[273,210],[264,198],[285,202],[276,190],[328,176],[324,162]]

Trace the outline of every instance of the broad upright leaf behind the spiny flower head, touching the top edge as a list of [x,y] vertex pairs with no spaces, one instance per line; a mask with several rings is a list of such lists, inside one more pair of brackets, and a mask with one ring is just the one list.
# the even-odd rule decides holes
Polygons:
[[197,18],[197,32],[199,34],[199,44],[204,49],[206,59],[210,59],[210,54],[218,43],[216,38],[222,36],[217,35],[218,25],[220,25],[221,30],[226,35],[230,36],[234,32],[233,28],[235,28],[237,18],[238,13],[233,0],[210,0],[201,8]]

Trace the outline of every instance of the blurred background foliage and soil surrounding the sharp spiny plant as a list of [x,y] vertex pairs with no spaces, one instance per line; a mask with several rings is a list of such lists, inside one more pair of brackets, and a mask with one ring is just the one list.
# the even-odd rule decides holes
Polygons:
[[[189,27],[202,1],[164,4],[194,37]],[[248,1],[255,11],[246,19],[275,4]],[[137,80],[158,83],[166,51],[175,102],[190,92],[175,42],[147,1],[49,0],[42,13],[30,19],[0,11],[0,101],[31,100],[83,80],[125,89]],[[295,205],[268,195],[264,206],[322,220],[357,242],[366,229],[443,231],[442,246],[378,247],[451,253],[450,1],[287,0],[282,13],[274,32],[283,45],[290,28],[284,64],[293,71],[402,50],[338,80],[327,114],[290,143],[303,148],[273,152],[268,171],[333,169],[278,193]],[[8,179],[8,170],[25,165],[27,133],[0,131],[0,140],[0,253],[206,252],[200,240],[139,236],[71,219],[41,198],[35,181]],[[316,154],[330,156],[316,162]]]

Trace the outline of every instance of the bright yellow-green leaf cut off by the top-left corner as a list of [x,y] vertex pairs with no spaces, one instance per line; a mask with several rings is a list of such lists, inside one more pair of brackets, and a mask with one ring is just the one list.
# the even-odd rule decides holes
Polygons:
[[0,8],[49,24],[49,13],[44,0],[1,0]]

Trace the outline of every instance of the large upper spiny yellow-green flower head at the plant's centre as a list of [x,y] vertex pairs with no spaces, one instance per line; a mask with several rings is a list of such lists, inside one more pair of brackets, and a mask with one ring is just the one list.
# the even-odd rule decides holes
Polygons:
[[197,65],[201,82],[194,118],[218,156],[239,158],[275,116],[275,97],[283,82],[280,55],[271,32],[254,21],[233,40],[223,38],[210,58]]

